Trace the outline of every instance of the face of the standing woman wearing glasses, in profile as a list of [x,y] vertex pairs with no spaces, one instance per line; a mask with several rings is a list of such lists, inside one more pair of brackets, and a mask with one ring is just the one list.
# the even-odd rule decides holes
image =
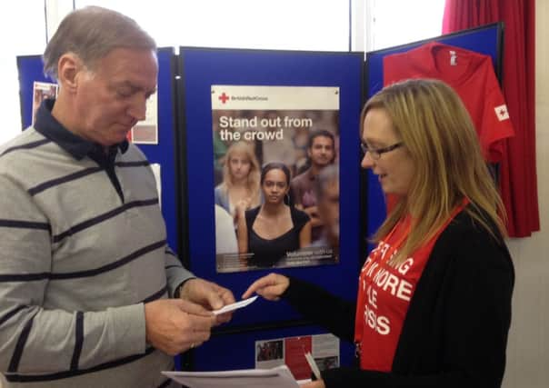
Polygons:
[[[394,132],[391,118],[384,108],[374,108],[364,117],[362,142],[368,149],[379,149],[401,142]],[[377,175],[385,194],[406,196],[415,173],[414,161],[405,145],[380,154],[374,159],[370,152],[364,154],[363,168],[370,168]]]

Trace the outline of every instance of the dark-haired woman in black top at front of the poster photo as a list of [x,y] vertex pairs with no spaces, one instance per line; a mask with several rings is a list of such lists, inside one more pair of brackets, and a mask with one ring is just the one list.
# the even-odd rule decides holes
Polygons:
[[274,266],[286,256],[311,244],[311,221],[301,210],[284,203],[290,190],[285,164],[265,164],[261,171],[264,204],[238,217],[238,252],[247,265]]

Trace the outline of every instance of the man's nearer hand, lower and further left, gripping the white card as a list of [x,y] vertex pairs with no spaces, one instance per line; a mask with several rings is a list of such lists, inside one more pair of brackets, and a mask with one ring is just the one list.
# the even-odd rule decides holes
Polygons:
[[214,324],[215,315],[195,303],[180,299],[145,303],[146,341],[169,355],[204,343]]

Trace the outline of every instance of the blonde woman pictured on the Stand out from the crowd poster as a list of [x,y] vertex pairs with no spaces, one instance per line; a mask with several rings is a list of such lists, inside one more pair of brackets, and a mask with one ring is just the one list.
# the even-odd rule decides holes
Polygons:
[[259,163],[249,144],[238,142],[229,147],[223,171],[223,182],[215,187],[215,204],[234,217],[238,209],[260,204]]

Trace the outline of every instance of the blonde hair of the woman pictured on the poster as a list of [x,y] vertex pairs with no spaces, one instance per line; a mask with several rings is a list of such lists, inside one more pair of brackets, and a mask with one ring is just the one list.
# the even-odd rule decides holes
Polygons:
[[261,175],[261,170],[259,168],[259,162],[255,156],[254,149],[252,145],[245,142],[237,142],[231,144],[227,152],[225,153],[223,161],[223,190],[228,191],[233,185],[233,175],[231,174],[231,158],[234,154],[245,154],[246,159],[250,162],[250,171],[246,180],[246,188],[250,192],[252,198],[252,207],[255,207],[260,203],[260,190],[259,190],[259,177]]

